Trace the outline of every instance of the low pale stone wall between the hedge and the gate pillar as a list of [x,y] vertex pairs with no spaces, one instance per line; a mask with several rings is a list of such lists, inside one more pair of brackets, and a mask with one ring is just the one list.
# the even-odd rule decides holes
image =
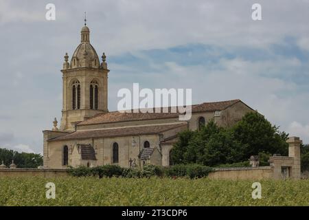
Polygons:
[[209,179],[271,179],[273,177],[273,168],[271,166],[258,167],[231,167],[214,168],[214,172],[209,173]]

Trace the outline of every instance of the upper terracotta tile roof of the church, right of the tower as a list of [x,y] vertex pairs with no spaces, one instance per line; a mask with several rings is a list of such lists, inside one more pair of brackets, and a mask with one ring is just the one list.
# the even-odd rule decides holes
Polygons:
[[[207,111],[222,111],[227,109],[233,104],[240,102],[237,100],[229,100],[223,102],[204,102],[202,104],[192,105],[192,113],[194,112],[207,112]],[[161,108],[162,109],[162,108]],[[167,109],[167,108],[165,108]],[[170,113],[170,108],[168,108],[168,113],[122,113],[119,111],[110,111],[107,113],[100,113],[94,115],[93,118],[89,118],[80,122],[79,125],[87,124],[104,124],[110,122],[126,122],[126,121],[135,121],[135,120],[152,120],[152,119],[165,119],[165,118],[177,118],[180,113]],[[154,110],[155,112],[155,110]]]

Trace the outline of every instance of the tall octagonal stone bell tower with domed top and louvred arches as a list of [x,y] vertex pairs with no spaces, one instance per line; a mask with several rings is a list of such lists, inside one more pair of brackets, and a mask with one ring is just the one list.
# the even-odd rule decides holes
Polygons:
[[62,72],[62,118],[60,131],[73,131],[75,124],[97,113],[108,111],[108,72],[106,56],[102,63],[90,44],[89,28],[80,32],[80,45],[76,48],[71,62],[65,54]]

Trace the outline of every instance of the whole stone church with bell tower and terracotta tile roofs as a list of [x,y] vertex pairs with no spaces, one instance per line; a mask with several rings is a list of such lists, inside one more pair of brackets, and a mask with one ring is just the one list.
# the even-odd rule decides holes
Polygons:
[[169,166],[170,150],[180,131],[200,129],[209,120],[231,126],[254,111],[241,100],[194,104],[187,121],[179,120],[179,113],[108,111],[106,55],[99,59],[86,24],[80,37],[71,61],[65,54],[61,70],[60,126],[55,118],[52,130],[43,131],[44,168]]

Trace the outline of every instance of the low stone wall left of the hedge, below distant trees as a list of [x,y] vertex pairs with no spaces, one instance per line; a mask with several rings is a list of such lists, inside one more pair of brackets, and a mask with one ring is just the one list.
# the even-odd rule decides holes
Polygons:
[[65,177],[66,169],[38,169],[38,168],[1,168],[1,177]]

